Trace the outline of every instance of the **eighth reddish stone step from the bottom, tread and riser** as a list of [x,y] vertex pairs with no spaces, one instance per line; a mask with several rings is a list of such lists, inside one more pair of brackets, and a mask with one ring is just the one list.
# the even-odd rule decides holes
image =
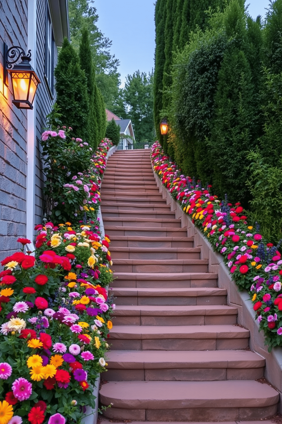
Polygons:
[[112,259],[200,259],[201,249],[184,248],[149,248],[149,247],[114,247],[110,246]]

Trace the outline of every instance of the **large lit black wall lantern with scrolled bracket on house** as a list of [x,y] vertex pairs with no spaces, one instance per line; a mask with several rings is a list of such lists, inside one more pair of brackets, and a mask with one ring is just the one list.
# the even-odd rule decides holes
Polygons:
[[[11,75],[13,97],[12,102],[18,109],[33,109],[33,100],[40,80],[33,67],[30,65],[31,52],[25,54],[25,50],[19,46],[8,46],[4,43],[4,67],[3,81],[8,86],[8,73]],[[22,61],[16,63],[19,59]]]

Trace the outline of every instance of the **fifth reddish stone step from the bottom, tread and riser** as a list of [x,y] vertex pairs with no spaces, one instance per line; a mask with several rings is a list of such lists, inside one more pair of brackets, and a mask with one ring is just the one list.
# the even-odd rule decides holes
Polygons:
[[218,287],[113,287],[117,305],[225,305],[227,290]]

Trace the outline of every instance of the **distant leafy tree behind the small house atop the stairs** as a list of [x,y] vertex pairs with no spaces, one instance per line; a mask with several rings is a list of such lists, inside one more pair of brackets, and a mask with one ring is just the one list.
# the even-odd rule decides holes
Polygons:
[[153,72],[136,71],[127,75],[123,98],[131,118],[137,142],[152,139],[153,132]]

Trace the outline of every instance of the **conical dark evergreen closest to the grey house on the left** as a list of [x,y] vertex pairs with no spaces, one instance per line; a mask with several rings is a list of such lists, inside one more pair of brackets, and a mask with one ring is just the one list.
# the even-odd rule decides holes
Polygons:
[[57,106],[62,122],[71,126],[76,137],[88,140],[89,100],[87,80],[74,48],[65,38],[54,71]]

